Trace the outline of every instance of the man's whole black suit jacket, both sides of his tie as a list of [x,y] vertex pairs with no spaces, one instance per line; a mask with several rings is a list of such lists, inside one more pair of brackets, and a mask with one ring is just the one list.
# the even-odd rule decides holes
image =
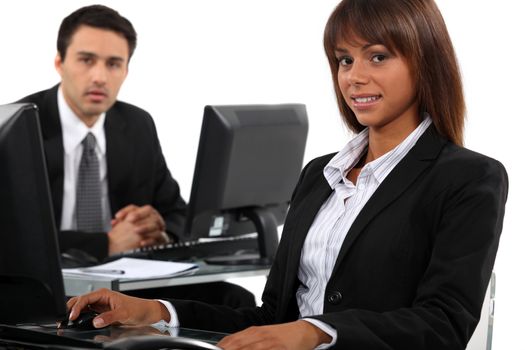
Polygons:
[[[58,85],[21,99],[38,106],[47,172],[57,226],[62,215],[64,146],[57,104]],[[106,160],[111,213],[128,204],[150,204],[164,217],[167,231],[182,234],[186,203],[171,177],[153,119],[146,111],[117,101],[107,112]],[[106,233],[59,232],[61,251],[83,249],[98,258],[107,256]]]

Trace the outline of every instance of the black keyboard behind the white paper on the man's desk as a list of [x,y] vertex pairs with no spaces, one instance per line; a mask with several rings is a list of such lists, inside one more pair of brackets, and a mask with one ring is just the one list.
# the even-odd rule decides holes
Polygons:
[[249,234],[147,246],[111,255],[105,262],[124,257],[186,261],[221,256],[253,255],[256,253],[258,253],[257,235]]

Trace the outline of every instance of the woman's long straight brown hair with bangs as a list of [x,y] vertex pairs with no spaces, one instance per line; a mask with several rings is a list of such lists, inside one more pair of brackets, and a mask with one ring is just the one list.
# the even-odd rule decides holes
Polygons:
[[416,82],[421,112],[428,112],[438,132],[463,145],[465,101],[461,74],[445,22],[433,0],[343,0],[325,27],[324,48],[346,125],[364,129],[339,89],[338,44],[362,39],[402,55]]

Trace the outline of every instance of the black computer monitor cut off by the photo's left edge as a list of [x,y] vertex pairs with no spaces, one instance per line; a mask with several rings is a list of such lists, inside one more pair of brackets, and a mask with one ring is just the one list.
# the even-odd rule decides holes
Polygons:
[[0,323],[66,315],[38,111],[0,106]]

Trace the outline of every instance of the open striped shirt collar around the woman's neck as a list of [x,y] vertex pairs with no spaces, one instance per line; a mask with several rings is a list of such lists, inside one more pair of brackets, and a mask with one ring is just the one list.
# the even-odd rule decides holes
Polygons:
[[[363,167],[362,172],[372,173],[378,183],[381,183],[390,171],[416,144],[417,140],[432,124],[432,119],[428,113],[424,114],[423,121],[418,127],[408,135],[403,142],[397,145],[381,157],[374,159]],[[346,182],[346,174],[361,159],[368,148],[368,128],[361,131],[356,137],[350,140],[341,151],[339,151],[325,166],[323,174],[332,189],[343,181]],[[397,161],[392,162],[393,159]]]

